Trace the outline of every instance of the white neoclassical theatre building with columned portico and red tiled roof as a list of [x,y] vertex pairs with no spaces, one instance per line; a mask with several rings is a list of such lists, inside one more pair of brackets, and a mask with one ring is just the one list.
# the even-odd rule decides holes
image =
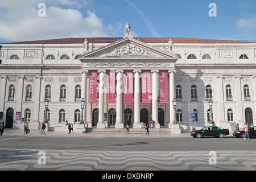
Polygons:
[[255,42],[126,35],[1,46],[6,127],[23,128],[24,118],[31,129],[46,120],[142,128],[152,118],[155,128],[188,132],[212,121],[232,130],[256,121]]

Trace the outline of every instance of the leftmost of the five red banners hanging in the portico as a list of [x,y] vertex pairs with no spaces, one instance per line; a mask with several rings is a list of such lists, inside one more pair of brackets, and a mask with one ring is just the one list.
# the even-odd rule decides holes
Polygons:
[[97,71],[89,71],[89,103],[97,103],[97,81],[98,72]]

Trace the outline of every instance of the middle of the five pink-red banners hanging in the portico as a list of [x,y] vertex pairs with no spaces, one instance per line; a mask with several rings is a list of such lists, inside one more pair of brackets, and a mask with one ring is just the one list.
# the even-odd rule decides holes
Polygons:
[[123,103],[133,103],[133,71],[123,72]]

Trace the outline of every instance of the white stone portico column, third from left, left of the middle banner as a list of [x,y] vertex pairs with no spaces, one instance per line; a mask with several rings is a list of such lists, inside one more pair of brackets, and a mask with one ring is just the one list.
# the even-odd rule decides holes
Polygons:
[[122,77],[123,77],[123,70],[116,70],[117,73],[117,117],[115,121],[115,128],[122,129],[123,128],[123,90],[122,90]]

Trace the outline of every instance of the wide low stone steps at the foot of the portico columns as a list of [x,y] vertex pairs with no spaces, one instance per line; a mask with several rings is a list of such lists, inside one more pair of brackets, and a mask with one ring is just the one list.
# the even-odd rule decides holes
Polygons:
[[[149,129],[150,133],[158,133],[158,134],[171,134],[171,129],[166,127],[161,127],[160,129]],[[130,129],[130,133],[138,133],[138,134],[146,134],[146,130],[142,129]],[[97,129],[97,127],[91,127],[86,129],[86,133],[126,133],[126,128],[123,129],[115,129],[113,127],[108,127],[105,129]]]

